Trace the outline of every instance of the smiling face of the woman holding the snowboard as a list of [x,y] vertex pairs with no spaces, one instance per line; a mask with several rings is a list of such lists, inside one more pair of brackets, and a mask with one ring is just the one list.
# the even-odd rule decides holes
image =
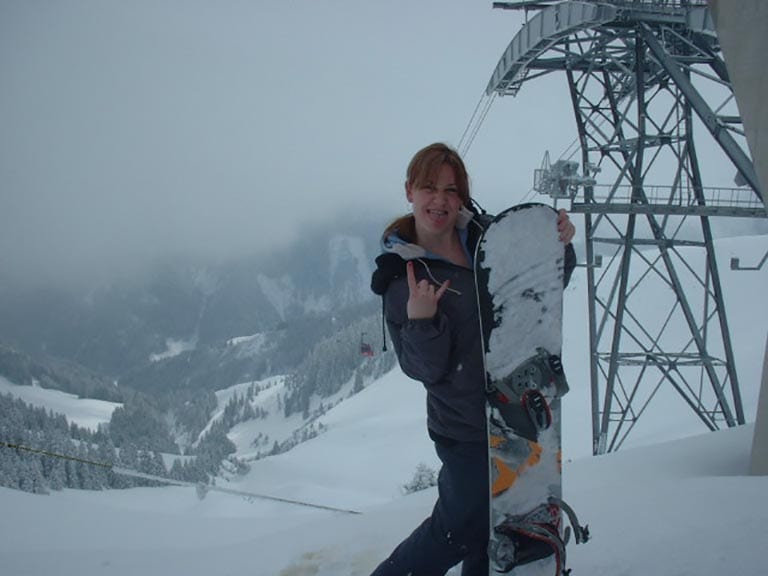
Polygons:
[[406,184],[405,190],[408,201],[413,204],[417,234],[453,232],[462,200],[450,165],[440,166],[434,181]]

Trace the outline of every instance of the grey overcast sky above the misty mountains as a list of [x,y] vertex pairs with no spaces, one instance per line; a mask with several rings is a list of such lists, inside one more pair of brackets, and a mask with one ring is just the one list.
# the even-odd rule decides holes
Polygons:
[[[1,0],[3,275],[233,256],[340,211],[405,211],[411,155],[458,145],[520,28],[491,5]],[[538,98],[495,104],[475,139],[481,202],[530,190],[546,143],[509,118],[530,135]]]

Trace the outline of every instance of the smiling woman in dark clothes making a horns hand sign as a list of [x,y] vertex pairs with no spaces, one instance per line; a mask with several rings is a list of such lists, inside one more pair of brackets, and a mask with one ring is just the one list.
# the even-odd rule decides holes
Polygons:
[[[413,213],[385,230],[371,287],[383,296],[403,372],[426,387],[427,427],[442,468],[432,515],[372,576],[437,576],[459,562],[463,576],[487,576],[488,451],[472,254],[490,218],[474,210],[464,163],[445,144],[416,153],[405,193]],[[569,247],[568,278],[574,227],[565,211],[558,230]]]

